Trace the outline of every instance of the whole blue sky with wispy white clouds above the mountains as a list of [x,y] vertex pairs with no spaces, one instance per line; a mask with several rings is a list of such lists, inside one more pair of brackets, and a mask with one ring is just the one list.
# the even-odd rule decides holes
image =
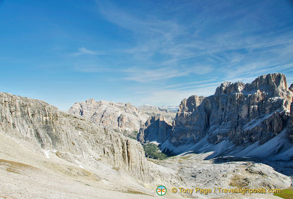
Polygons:
[[292,0],[0,0],[0,91],[178,105],[223,81],[293,83]]

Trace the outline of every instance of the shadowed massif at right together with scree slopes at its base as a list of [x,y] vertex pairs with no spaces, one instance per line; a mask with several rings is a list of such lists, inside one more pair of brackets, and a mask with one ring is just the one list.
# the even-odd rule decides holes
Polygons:
[[[280,73],[260,76],[251,84],[224,82],[210,97],[181,101],[169,136],[160,142],[162,150],[214,151],[208,158],[285,155],[292,148],[292,131],[286,135],[292,98],[286,76]],[[259,153],[266,143],[270,146]]]

